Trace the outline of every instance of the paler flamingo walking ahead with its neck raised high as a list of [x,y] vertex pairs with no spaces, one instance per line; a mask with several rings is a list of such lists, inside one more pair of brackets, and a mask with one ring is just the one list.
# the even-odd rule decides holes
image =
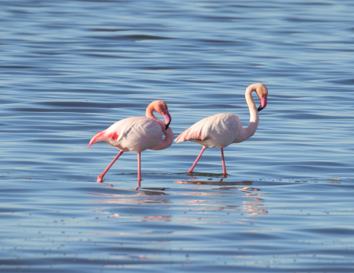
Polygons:
[[[261,105],[257,109],[255,101],[252,98],[252,92],[255,91],[261,99]],[[183,141],[193,141],[202,145],[202,149],[195,159],[188,173],[192,173],[196,163],[204,150],[208,147],[220,148],[221,161],[223,166],[223,175],[226,175],[224,147],[232,143],[239,143],[252,136],[258,126],[258,111],[267,106],[268,89],[262,83],[253,83],[246,88],[246,102],[250,109],[250,123],[247,128],[243,128],[238,116],[232,113],[216,114],[206,117],[185,130],[175,139],[176,143]]]

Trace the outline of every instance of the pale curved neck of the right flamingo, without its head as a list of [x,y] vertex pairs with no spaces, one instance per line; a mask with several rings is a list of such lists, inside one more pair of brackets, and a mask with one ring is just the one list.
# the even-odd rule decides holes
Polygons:
[[[253,134],[255,134],[258,127],[259,116],[258,116],[257,106],[255,104],[255,101],[252,98],[253,91],[256,91],[256,86],[250,85],[249,87],[247,87],[245,93],[246,103],[248,105],[248,108],[250,109],[250,123],[248,124],[247,128],[244,128],[242,132],[243,134],[242,134],[241,141],[244,141],[250,138]],[[240,139],[238,141],[240,141]]]

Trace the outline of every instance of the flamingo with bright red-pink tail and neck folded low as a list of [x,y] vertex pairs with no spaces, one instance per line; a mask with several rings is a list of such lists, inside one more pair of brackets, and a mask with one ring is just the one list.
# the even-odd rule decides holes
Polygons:
[[[156,118],[153,111],[165,119],[165,123]],[[87,147],[102,141],[120,149],[118,155],[98,175],[97,182],[102,183],[103,176],[123,152],[130,151],[138,154],[138,187],[141,181],[140,153],[144,150],[163,150],[173,142],[172,129],[169,127],[171,115],[167,105],[162,100],[155,100],[146,108],[146,117],[128,117],[117,121],[104,131],[95,134]],[[162,133],[165,138],[162,139]],[[137,187],[137,188],[138,188]]]

